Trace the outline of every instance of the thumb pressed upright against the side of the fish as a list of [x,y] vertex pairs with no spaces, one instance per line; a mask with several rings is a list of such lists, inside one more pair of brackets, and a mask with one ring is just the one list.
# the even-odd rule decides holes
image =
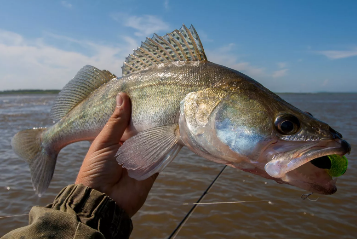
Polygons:
[[107,124],[97,136],[97,143],[110,146],[118,144],[128,126],[131,114],[130,99],[127,94],[119,93],[116,98],[116,107],[114,113],[109,118]]

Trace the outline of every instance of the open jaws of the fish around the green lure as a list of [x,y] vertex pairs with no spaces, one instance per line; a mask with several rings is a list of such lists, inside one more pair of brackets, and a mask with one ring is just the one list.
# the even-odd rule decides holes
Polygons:
[[337,178],[329,173],[331,160],[327,156],[343,156],[350,151],[351,146],[342,139],[311,142],[276,153],[264,169],[284,183],[319,194],[333,194],[337,191]]

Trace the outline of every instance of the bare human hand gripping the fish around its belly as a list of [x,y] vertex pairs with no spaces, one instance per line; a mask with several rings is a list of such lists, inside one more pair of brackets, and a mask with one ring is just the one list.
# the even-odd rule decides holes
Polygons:
[[144,204],[158,174],[137,181],[129,177],[125,168],[118,164],[115,154],[120,139],[128,126],[131,114],[130,99],[125,93],[117,95],[114,113],[93,141],[78,173],[76,184],[107,194],[132,217]]

